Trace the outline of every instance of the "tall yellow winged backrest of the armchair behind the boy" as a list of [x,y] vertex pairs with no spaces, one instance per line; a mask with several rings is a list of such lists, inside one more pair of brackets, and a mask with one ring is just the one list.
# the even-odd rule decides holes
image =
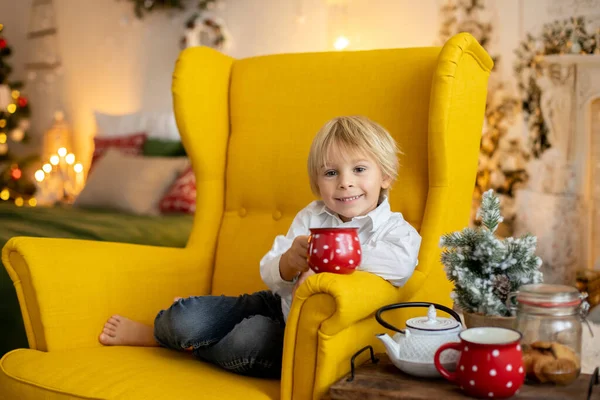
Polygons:
[[[432,185],[466,185],[459,200],[444,192],[435,202],[460,204],[453,212],[467,222],[491,60],[470,35],[453,40],[442,53],[430,47],[233,60],[195,48],[181,55],[175,111],[198,179],[188,246],[199,257],[214,256],[212,293],[265,288],[259,260],[314,200],[308,150],[319,128],[336,116],[366,115],[396,139],[403,155],[391,206],[422,235]],[[461,68],[469,51],[474,61]],[[461,145],[462,160],[450,154]],[[461,174],[466,182],[459,182]]]

